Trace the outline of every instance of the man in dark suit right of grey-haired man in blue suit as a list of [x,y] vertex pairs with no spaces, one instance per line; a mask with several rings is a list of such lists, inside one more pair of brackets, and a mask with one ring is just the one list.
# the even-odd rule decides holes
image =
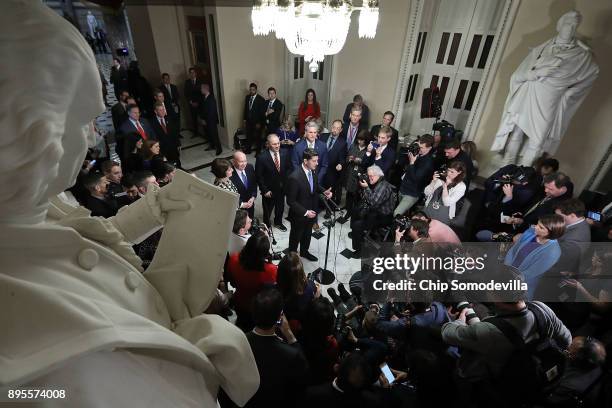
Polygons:
[[[342,121],[337,119],[331,125],[331,133],[323,133],[319,137],[327,147],[327,172],[323,186],[332,188],[332,193],[338,201],[337,204],[340,204],[339,201],[342,198],[342,170],[347,153],[346,141],[340,136],[341,133]],[[326,213],[325,217],[329,218],[329,214]]]

